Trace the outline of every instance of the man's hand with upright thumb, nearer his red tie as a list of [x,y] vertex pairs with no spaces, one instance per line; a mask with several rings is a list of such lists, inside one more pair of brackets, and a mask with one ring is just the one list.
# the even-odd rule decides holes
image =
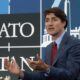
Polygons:
[[26,59],[29,66],[33,68],[34,70],[39,71],[46,71],[49,67],[49,65],[45,64],[42,59],[40,59],[39,55],[37,54],[37,61],[32,61],[30,59]]

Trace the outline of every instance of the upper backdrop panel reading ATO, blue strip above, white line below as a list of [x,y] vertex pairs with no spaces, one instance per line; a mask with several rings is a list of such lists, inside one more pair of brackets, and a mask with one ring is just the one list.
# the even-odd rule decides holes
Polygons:
[[0,0],[0,48],[32,46],[40,46],[40,0]]

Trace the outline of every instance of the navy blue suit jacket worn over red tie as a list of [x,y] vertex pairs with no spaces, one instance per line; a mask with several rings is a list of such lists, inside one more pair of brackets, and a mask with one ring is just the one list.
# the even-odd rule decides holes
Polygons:
[[[52,44],[44,53],[44,62],[50,65]],[[64,34],[57,57],[46,76],[45,71],[24,72],[23,80],[79,80],[80,73],[80,40]]]

